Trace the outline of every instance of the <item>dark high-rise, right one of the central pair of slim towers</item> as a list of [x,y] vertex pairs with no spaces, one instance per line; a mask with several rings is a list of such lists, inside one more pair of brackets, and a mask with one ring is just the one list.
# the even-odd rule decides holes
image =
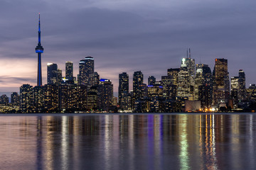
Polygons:
[[133,98],[134,100],[139,100],[142,98],[142,84],[143,84],[143,74],[141,71],[134,72],[133,75]]

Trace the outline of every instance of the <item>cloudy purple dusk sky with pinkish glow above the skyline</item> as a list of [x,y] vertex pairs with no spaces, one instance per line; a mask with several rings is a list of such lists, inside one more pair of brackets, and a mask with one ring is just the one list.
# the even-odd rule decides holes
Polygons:
[[[186,49],[198,64],[228,59],[230,77],[239,69],[246,86],[256,83],[256,1],[210,0],[1,0],[0,91],[36,85],[38,13],[41,13],[43,84],[47,63],[95,58],[95,72],[111,79],[141,70],[161,80],[167,69],[178,68]],[[132,86],[130,86],[132,89]],[[117,96],[115,94],[115,96]]]

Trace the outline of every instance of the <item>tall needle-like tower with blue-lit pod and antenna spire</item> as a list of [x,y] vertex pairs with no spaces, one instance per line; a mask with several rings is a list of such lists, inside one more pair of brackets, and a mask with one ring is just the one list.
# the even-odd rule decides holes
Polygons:
[[37,79],[37,86],[42,86],[41,53],[43,53],[43,46],[41,45],[40,13],[39,13],[39,23],[38,23],[38,45],[36,46],[36,53],[38,53],[38,79]]

